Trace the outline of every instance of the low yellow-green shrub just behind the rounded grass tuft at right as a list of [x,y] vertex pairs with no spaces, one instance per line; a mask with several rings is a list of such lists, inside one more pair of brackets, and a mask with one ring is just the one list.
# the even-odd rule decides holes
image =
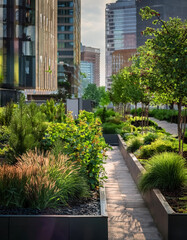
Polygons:
[[138,158],[147,159],[152,157],[156,153],[162,152],[174,152],[176,151],[175,146],[169,140],[157,139],[155,142],[152,142],[150,145],[142,146],[136,155]]

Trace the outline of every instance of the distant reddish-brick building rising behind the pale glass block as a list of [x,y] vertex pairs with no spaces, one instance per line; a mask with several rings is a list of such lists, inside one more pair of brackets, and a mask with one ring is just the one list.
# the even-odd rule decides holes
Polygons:
[[81,61],[93,63],[93,83],[100,86],[100,49],[93,47],[81,47]]

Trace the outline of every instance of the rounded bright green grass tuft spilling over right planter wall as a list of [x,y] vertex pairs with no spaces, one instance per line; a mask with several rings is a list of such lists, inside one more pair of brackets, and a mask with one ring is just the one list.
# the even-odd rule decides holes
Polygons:
[[186,184],[185,159],[176,153],[161,153],[147,162],[146,172],[141,176],[139,188],[145,192],[153,188],[173,191]]

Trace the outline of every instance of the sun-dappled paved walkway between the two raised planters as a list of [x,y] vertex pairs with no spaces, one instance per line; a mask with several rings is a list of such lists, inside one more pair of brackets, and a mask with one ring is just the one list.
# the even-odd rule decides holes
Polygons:
[[108,152],[109,240],[161,240],[118,147]]

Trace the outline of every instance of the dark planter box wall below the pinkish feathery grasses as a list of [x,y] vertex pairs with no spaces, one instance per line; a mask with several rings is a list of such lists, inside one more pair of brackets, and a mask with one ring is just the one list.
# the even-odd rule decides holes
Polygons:
[[106,196],[100,189],[101,215],[0,215],[1,240],[107,240]]

